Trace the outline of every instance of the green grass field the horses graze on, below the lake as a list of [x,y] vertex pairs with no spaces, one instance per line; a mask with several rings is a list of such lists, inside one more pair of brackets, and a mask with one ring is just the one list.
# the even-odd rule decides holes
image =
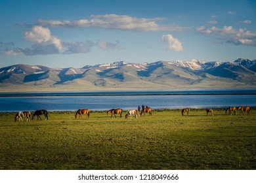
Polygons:
[[256,169],[256,112],[154,110],[131,120],[50,112],[14,122],[0,112],[0,169]]

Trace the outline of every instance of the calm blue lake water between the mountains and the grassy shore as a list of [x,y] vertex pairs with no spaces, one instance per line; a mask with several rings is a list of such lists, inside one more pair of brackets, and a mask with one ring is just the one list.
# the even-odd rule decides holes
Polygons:
[[0,111],[256,107],[256,90],[0,93]]

